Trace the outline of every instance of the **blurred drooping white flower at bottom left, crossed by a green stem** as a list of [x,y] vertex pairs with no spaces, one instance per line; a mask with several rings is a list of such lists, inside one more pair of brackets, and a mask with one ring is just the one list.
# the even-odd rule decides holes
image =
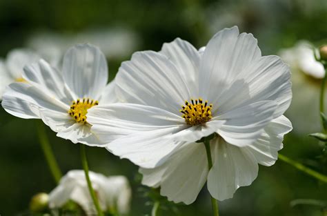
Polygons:
[[[125,215],[130,210],[132,190],[126,177],[106,177],[90,171],[90,180],[99,200],[101,210]],[[69,200],[79,204],[87,215],[96,215],[83,170],[70,170],[61,178],[59,186],[49,195],[50,208],[61,208]]]

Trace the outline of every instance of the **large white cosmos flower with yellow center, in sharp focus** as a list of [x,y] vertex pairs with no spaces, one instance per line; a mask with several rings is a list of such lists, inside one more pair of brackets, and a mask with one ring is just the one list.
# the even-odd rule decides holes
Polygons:
[[[117,97],[129,104],[90,110],[92,131],[142,167],[143,184],[160,186],[174,202],[194,202],[206,181],[216,199],[232,197],[257,177],[258,164],[275,163],[292,129],[283,116],[292,97],[288,66],[261,57],[257,39],[237,27],[200,51],[176,39],[160,52],[136,52],[115,81]],[[197,141],[214,133],[208,170]]]

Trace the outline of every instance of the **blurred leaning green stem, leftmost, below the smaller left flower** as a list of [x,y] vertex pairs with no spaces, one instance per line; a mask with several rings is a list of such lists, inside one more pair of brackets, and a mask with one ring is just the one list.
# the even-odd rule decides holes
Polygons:
[[38,122],[37,124],[37,135],[39,137],[39,143],[43,150],[44,157],[46,157],[46,161],[48,163],[52,177],[54,181],[58,184],[62,174],[52,152],[52,148],[50,146],[49,139],[46,135],[46,128],[44,127],[43,122]]

